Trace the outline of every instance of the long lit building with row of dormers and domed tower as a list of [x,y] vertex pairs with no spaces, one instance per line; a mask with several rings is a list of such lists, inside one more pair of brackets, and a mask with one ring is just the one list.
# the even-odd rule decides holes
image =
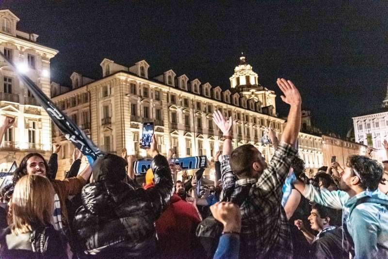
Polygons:
[[[234,146],[251,143],[267,160],[272,157],[272,145],[262,145],[260,138],[270,124],[280,136],[284,120],[276,116],[275,93],[258,83],[244,57],[226,91],[186,75],[177,76],[173,70],[150,79],[145,60],[126,67],[104,59],[100,65],[103,78],[93,80],[73,73],[72,89],[53,100],[103,150],[119,154],[126,147],[129,154],[145,158],[146,151],[139,148],[142,123],[153,121],[162,154],[174,147],[179,157],[211,158],[222,147],[222,134],[212,121],[212,113],[220,110],[235,120]],[[53,92],[60,93],[59,84],[51,86]],[[74,147],[58,129],[52,137],[54,143],[63,145],[61,177],[70,167]]]

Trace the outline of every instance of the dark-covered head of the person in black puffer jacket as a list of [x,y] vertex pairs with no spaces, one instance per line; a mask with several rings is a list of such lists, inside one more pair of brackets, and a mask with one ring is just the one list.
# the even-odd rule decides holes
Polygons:
[[122,157],[106,154],[98,158],[93,165],[95,182],[119,183],[127,179],[128,162]]

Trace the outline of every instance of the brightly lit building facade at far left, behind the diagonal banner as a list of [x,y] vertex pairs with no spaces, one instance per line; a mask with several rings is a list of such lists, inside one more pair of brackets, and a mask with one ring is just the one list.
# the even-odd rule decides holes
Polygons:
[[[35,33],[16,29],[19,18],[10,10],[0,10],[0,51],[50,96],[50,59],[58,51],[36,42]],[[16,118],[0,146],[0,172],[8,171],[29,152],[49,157],[51,123],[49,115],[0,58],[0,114]]]

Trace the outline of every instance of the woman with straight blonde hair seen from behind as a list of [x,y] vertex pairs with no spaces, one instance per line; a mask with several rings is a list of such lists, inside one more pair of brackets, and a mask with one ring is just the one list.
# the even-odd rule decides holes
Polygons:
[[0,234],[0,258],[67,258],[67,244],[50,223],[54,194],[48,178],[20,178],[10,204],[12,224]]

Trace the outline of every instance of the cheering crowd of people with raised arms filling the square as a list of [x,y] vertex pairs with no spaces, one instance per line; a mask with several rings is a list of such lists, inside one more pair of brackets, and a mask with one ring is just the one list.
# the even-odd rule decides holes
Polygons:
[[[80,173],[75,149],[63,180],[61,146],[48,162],[28,154],[0,193],[0,258],[388,258],[388,161],[354,155],[308,178],[296,149],[302,99],[291,81],[277,84],[290,111],[280,140],[268,134],[271,161],[250,144],[233,149],[232,117],[216,111],[224,144],[209,186],[205,168],[178,179],[174,149],[162,156],[155,135],[146,175],[125,149]],[[0,116],[0,140],[14,120]]]

